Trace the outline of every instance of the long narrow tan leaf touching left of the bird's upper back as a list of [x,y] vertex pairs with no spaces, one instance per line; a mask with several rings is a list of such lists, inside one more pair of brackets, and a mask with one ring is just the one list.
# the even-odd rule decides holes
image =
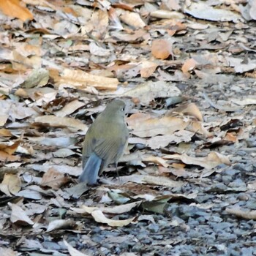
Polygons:
[[50,127],[67,127],[70,129],[80,129],[82,131],[87,129],[86,124],[70,117],[38,116],[37,118],[34,118],[34,121],[37,123],[48,124]]

